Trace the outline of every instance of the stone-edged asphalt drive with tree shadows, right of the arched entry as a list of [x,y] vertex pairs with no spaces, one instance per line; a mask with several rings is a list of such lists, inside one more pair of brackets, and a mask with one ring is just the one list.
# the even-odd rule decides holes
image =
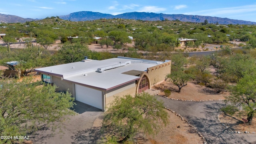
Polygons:
[[178,112],[204,135],[208,144],[255,144],[256,134],[233,134],[218,121],[222,101],[190,102],[157,96],[164,106]]

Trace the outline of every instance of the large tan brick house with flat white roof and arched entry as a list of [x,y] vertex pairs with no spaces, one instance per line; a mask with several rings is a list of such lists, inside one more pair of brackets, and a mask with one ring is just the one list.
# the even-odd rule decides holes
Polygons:
[[163,82],[170,74],[171,61],[120,57],[91,60],[35,69],[42,81],[69,91],[75,100],[106,111],[115,96],[143,92]]

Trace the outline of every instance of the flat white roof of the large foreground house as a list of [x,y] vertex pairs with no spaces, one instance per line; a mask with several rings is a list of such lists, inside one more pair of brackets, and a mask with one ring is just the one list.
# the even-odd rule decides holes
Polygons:
[[[36,72],[62,77],[70,82],[110,90],[116,86],[139,79],[139,76],[122,74],[130,70],[147,71],[147,68],[164,62],[135,58],[110,58],[106,60],[84,60],[45,68],[37,68]],[[105,70],[106,69],[106,70]],[[98,71],[98,72],[96,72]]]

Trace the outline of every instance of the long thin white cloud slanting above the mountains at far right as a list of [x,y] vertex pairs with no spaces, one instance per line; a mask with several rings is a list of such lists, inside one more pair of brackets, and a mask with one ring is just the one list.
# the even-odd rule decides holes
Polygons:
[[192,15],[202,15],[202,16],[218,16],[223,14],[241,14],[256,11],[256,4],[246,5],[246,6],[237,6],[230,8],[215,8],[210,10],[201,10],[196,12],[187,12],[184,14]]

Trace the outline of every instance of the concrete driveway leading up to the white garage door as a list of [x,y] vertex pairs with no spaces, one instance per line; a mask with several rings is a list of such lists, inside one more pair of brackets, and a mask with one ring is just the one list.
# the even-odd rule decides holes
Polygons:
[[101,136],[100,127],[93,126],[94,121],[102,119],[102,112],[82,102],[76,102],[74,106],[77,114],[69,116],[70,120],[56,126],[62,127],[62,132],[57,129],[52,132],[51,128],[44,127],[30,136],[34,144],[95,144]]

